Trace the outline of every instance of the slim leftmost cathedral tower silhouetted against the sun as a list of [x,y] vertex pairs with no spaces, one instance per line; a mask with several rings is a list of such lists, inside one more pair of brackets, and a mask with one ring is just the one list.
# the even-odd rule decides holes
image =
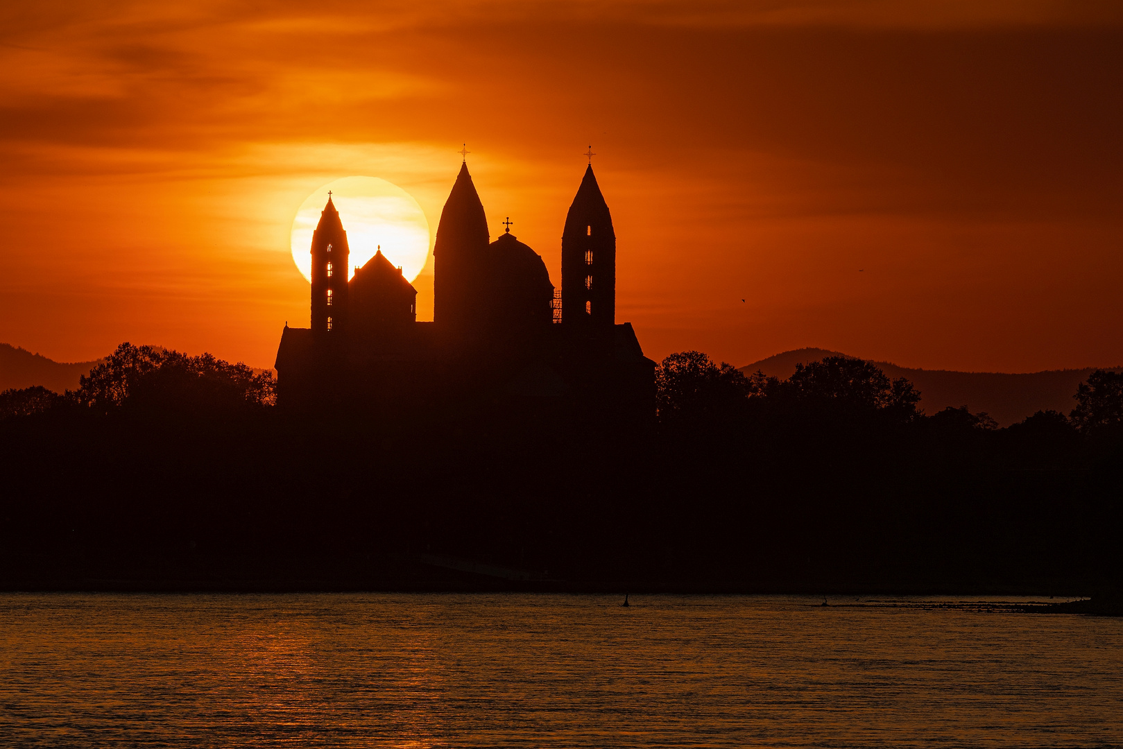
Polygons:
[[337,336],[347,328],[347,276],[350,248],[339,211],[331,202],[312,234],[312,334]]

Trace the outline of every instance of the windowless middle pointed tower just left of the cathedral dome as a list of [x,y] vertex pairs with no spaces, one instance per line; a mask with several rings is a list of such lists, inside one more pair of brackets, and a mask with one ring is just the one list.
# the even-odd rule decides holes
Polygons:
[[487,219],[468,165],[440,212],[433,244],[432,319],[446,329],[477,328],[486,312]]

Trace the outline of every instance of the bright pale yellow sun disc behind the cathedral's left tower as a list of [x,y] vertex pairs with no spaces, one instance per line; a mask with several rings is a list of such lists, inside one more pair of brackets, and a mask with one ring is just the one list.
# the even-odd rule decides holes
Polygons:
[[347,231],[350,247],[350,275],[382,254],[402,268],[410,281],[424,267],[429,256],[429,221],[413,197],[396,184],[373,176],[348,176],[321,186],[309,195],[292,220],[292,259],[305,278],[312,278],[312,232],[320,211],[331,201]]

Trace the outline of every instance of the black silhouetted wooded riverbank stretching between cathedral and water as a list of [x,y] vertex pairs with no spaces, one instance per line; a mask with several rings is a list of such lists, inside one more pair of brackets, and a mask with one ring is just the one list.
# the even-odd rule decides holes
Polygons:
[[906,380],[848,357],[777,380],[684,351],[656,378],[652,420],[627,427],[486,399],[287,412],[267,374],[124,344],[76,391],[0,394],[0,584],[1117,584],[1123,375],[1006,429],[924,414]]

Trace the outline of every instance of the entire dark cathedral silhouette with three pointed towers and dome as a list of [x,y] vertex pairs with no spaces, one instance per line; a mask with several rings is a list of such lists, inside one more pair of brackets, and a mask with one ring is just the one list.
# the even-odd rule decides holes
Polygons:
[[411,418],[489,413],[637,422],[655,411],[655,362],[615,322],[617,237],[592,165],[562,234],[562,289],[508,226],[490,241],[465,162],[433,247],[433,320],[375,254],[348,281],[347,231],[331,202],[312,235],[311,328],[277,349],[277,404]]

